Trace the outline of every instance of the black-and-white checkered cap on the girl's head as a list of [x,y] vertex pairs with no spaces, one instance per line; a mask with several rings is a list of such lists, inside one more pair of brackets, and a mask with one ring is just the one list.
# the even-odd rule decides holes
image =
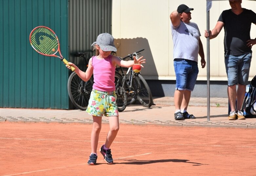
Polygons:
[[115,44],[114,44],[114,37],[109,33],[102,33],[98,35],[96,42],[93,45],[99,45],[102,51],[117,51]]

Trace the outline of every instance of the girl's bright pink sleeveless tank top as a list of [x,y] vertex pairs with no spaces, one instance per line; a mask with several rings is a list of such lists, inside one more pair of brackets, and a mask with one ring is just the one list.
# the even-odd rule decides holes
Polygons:
[[99,91],[115,90],[115,67],[112,64],[112,55],[104,59],[92,57],[94,83],[92,88]]

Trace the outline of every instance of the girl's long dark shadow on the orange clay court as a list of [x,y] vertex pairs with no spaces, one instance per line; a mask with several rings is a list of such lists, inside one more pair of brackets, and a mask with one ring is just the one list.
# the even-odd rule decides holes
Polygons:
[[[120,159],[115,160],[121,161]],[[175,163],[191,163],[194,164],[193,166],[201,166],[201,165],[208,165],[202,163],[194,163],[188,162],[189,160],[179,160],[179,159],[166,159],[166,160],[123,160],[128,161],[126,163],[115,163],[115,164],[128,164],[128,165],[145,165],[145,164],[152,164],[152,163],[167,163],[167,162],[175,162]]]

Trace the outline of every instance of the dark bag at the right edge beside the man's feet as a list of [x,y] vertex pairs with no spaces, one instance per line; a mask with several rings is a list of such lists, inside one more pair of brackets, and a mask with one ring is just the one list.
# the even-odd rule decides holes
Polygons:
[[256,75],[251,80],[249,91],[242,105],[242,111],[248,117],[256,117]]

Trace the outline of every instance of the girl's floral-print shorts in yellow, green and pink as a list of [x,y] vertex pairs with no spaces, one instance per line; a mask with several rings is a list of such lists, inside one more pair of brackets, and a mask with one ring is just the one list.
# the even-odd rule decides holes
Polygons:
[[116,93],[93,89],[86,112],[94,116],[118,116]]

